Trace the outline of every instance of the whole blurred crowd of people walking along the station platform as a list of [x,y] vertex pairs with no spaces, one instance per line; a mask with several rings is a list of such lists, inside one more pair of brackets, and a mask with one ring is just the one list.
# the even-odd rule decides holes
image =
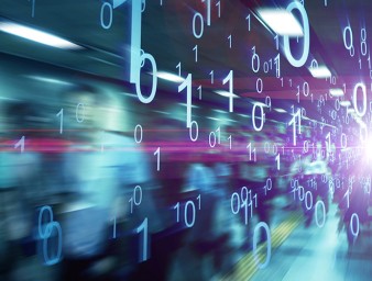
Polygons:
[[6,104],[1,280],[218,280],[274,215],[303,213],[308,227],[318,200],[324,218],[337,203],[350,244],[355,214],[368,222],[371,177],[348,176],[355,151],[309,132],[298,143],[311,145],[294,150],[275,126],[223,126],[212,147],[172,119],[133,137],[108,125],[113,103],[85,85],[61,94],[53,122],[37,101]]

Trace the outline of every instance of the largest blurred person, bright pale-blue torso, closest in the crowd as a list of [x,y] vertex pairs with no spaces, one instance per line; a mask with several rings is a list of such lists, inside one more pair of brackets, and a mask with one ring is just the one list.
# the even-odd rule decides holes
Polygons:
[[[140,247],[135,229],[145,217],[149,236],[161,228],[151,196],[149,160],[133,138],[109,127],[110,106],[116,105],[109,98],[86,85],[63,97],[65,137],[72,144],[62,167],[62,280],[128,278],[139,260],[133,255]],[[77,116],[78,108],[81,116]],[[131,214],[136,186],[143,202]]]

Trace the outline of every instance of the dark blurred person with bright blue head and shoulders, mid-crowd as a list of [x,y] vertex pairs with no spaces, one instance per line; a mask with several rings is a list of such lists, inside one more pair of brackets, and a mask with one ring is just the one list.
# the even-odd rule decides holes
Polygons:
[[185,173],[180,204],[194,202],[195,224],[187,228],[184,247],[178,251],[177,262],[184,268],[179,266],[173,274],[182,276],[180,280],[210,280],[231,266],[226,261],[229,228],[225,226],[229,209],[223,202],[226,192],[217,184],[212,155],[200,153],[194,159]]

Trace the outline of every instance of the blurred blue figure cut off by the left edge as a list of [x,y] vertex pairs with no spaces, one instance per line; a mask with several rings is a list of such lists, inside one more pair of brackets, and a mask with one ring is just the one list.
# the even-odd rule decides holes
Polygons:
[[[0,153],[0,276],[4,280],[53,280],[53,269],[36,258],[34,217],[41,192],[40,108],[33,102],[10,103]],[[55,274],[54,274],[55,276]]]

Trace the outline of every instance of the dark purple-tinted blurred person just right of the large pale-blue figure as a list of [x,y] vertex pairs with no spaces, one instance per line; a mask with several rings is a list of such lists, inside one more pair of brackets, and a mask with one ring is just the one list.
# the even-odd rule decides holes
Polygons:
[[[185,140],[188,137],[185,123],[173,117],[151,116],[146,123],[146,127],[155,128],[145,132],[150,142],[144,142],[144,147],[152,155],[150,165],[154,169],[156,186],[152,193],[156,202],[154,215],[162,221],[162,225],[151,235],[152,258],[140,263],[129,280],[146,280],[149,277],[167,280],[177,251],[184,245],[186,229],[176,222],[174,206],[183,199],[182,187],[190,147],[189,140]],[[158,162],[154,155],[157,148],[161,153]]]

